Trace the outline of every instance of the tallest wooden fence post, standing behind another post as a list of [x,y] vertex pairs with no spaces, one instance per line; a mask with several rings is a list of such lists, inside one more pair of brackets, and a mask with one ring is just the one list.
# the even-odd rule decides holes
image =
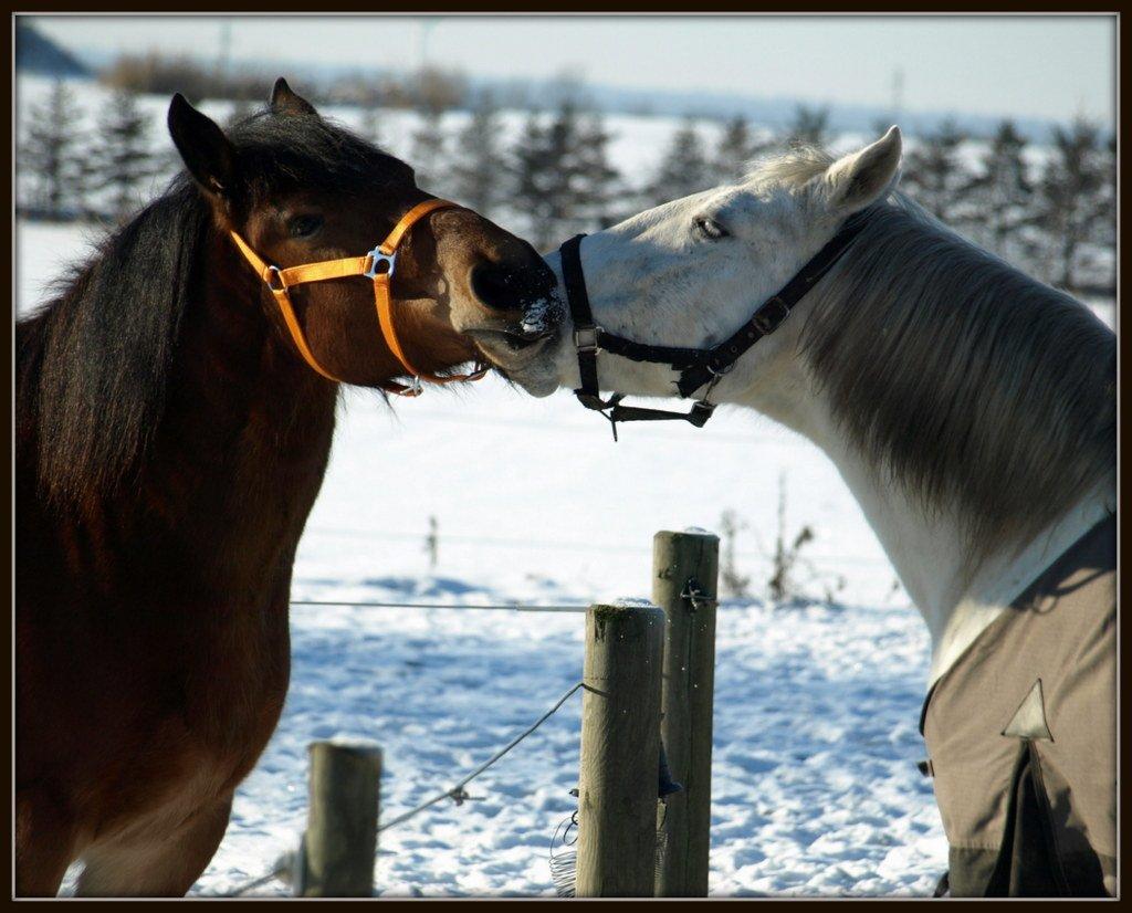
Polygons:
[[659,810],[658,897],[707,896],[718,576],[718,536],[653,537],[652,600],[666,615],[660,731],[672,778],[684,786]]

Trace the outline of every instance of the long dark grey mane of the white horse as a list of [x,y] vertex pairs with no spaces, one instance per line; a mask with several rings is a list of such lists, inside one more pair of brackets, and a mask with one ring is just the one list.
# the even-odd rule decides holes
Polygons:
[[899,193],[811,294],[801,347],[835,420],[883,482],[959,518],[969,575],[1113,482],[1116,338],[1077,300]]

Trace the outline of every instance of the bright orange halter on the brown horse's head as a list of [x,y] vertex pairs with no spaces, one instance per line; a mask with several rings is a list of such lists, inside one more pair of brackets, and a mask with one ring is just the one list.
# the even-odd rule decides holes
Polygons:
[[318,371],[318,373],[327,380],[334,380],[340,384],[345,382],[323,368],[323,365],[320,365],[318,360],[315,358],[315,354],[310,351],[310,346],[307,344],[307,339],[302,334],[302,327],[299,326],[299,319],[294,315],[294,308],[291,304],[289,290],[292,285],[302,285],[307,282],[325,282],[326,279],[341,279],[348,276],[367,276],[372,279],[374,299],[377,304],[377,321],[381,327],[381,334],[385,337],[386,344],[389,346],[389,351],[393,352],[394,358],[401,362],[405,372],[413,379],[411,386],[406,387],[403,384],[389,381],[388,384],[383,385],[383,389],[388,393],[394,393],[397,396],[420,396],[421,378],[424,378],[432,384],[452,384],[457,380],[479,380],[488,372],[487,365],[479,362],[477,363],[475,370],[470,374],[449,374],[446,377],[437,377],[436,374],[430,374],[424,371],[418,371],[405,356],[405,351],[401,347],[401,342],[397,339],[396,328],[393,325],[393,300],[389,294],[389,281],[393,278],[393,270],[396,268],[397,264],[397,246],[405,236],[405,233],[429,213],[435,213],[437,209],[458,208],[462,207],[457,206],[455,203],[449,203],[448,200],[424,200],[424,203],[418,204],[405,213],[401,217],[401,221],[394,225],[393,231],[389,232],[388,236],[365,257],[346,257],[342,260],[323,260],[317,264],[290,266],[285,269],[280,269],[277,266],[269,266],[264,262],[264,260],[260,259],[260,257],[242,238],[240,238],[237,232],[231,232],[231,234],[232,240],[235,241],[235,246],[240,249],[240,252],[248,259],[248,262],[251,264],[256,273],[259,274],[259,277],[267,284],[267,287],[272,290],[272,294],[275,295],[275,301],[280,305],[280,310],[283,312],[283,320],[286,322],[288,329],[291,330],[291,338],[294,339],[294,345],[295,348],[299,350],[299,354],[302,355],[307,364]]

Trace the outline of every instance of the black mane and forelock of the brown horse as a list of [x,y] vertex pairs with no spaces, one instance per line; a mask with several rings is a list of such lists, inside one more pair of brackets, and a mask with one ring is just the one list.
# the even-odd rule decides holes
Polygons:
[[[349,193],[355,181],[413,181],[403,162],[316,117],[265,112],[229,137],[257,205],[294,187]],[[110,493],[144,458],[181,318],[203,291],[212,225],[207,200],[182,173],[17,322],[17,423],[34,429],[38,476],[55,501]]]

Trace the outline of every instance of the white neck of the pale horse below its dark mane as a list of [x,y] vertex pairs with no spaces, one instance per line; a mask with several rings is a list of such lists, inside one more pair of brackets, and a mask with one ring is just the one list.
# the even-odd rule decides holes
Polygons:
[[838,467],[927,622],[932,634],[929,684],[1054,559],[1115,509],[1115,491],[1103,484],[1020,551],[1011,546],[992,553],[971,576],[964,518],[947,513],[927,516],[909,492],[886,483],[884,474],[846,441],[825,394],[800,358],[780,362],[778,368],[772,384],[758,385],[730,402],[755,408],[806,436]]

